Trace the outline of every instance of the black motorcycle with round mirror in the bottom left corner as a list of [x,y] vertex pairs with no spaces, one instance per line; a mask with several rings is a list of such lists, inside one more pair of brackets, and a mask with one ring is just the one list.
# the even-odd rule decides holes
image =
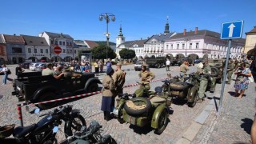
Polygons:
[[[35,114],[39,113],[39,109],[34,110]],[[45,116],[46,115],[46,116]],[[78,126],[86,126],[84,118],[78,112],[72,111],[72,106],[60,106],[60,110],[55,109],[54,112],[48,114],[38,115],[39,117],[45,116],[38,123],[30,126],[18,126],[13,129],[6,130],[6,133],[13,133],[14,138],[6,138],[10,135],[3,134],[0,142],[14,142],[14,143],[58,143],[55,138],[54,126],[62,124],[65,121],[64,130],[66,134],[72,135],[73,130],[77,130]],[[80,120],[81,123],[77,122]],[[0,134],[1,135],[1,134]],[[1,137],[0,137],[1,138]]]

